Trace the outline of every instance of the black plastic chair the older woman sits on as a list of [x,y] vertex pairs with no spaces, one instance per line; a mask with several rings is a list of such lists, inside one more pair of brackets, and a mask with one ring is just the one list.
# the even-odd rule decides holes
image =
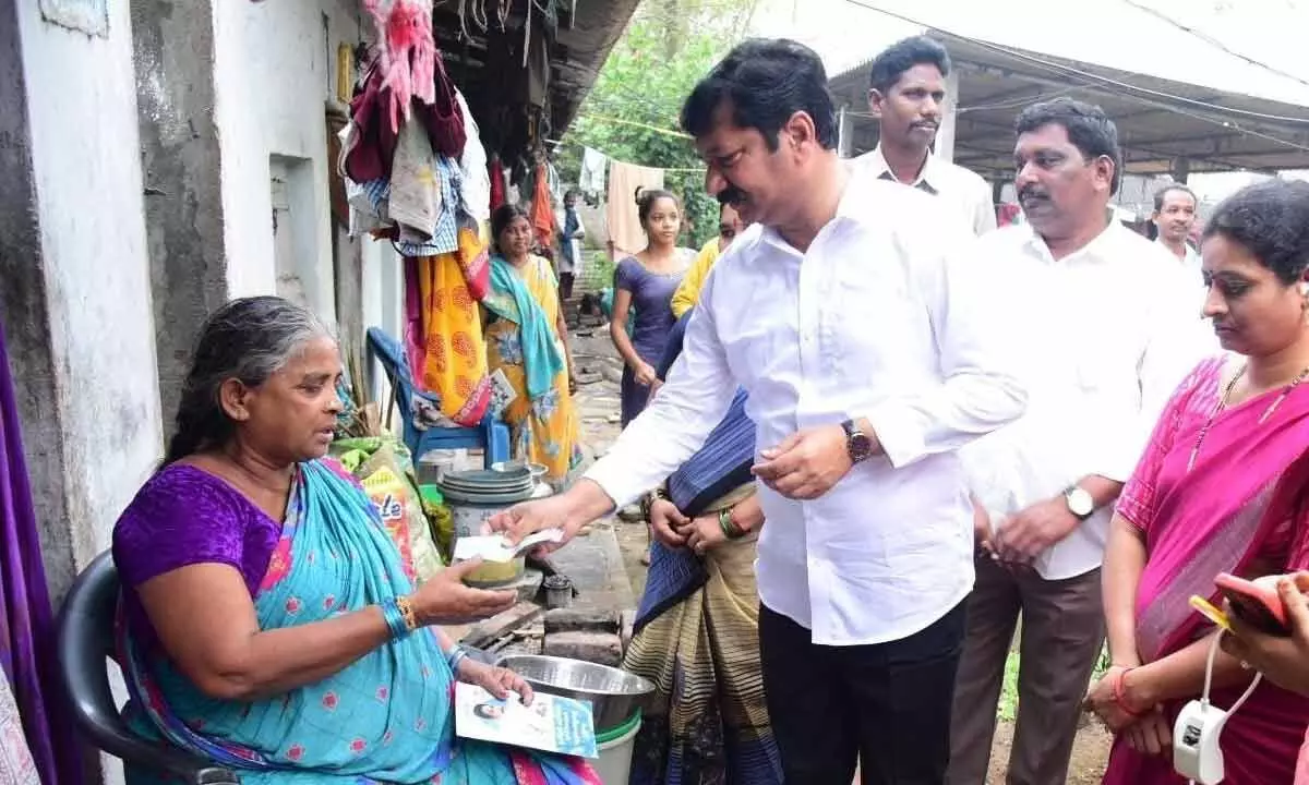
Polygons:
[[118,570],[107,551],[96,557],[68,591],[59,618],[59,669],[77,726],[98,750],[124,763],[181,777],[194,785],[234,785],[236,772],[143,738],[118,714],[109,688],[114,653]]

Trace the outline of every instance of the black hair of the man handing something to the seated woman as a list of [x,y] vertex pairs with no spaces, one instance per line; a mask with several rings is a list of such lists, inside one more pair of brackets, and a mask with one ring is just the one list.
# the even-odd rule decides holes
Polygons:
[[827,72],[818,52],[802,43],[785,38],[738,43],[686,98],[682,130],[704,136],[724,106],[730,107],[738,127],[762,133],[770,150],[778,149],[778,133],[797,111],[813,119],[818,144],[836,147],[836,109]]

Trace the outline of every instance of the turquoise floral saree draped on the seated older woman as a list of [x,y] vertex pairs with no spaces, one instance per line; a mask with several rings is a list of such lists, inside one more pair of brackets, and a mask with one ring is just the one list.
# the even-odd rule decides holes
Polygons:
[[[322,621],[412,591],[364,491],[322,462],[300,464],[287,519],[255,597],[260,629]],[[250,703],[208,697],[120,627],[136,716],[171,744],[238,769],[245,785],[511,785],[509,754],[454,739],[453,675],[431,629],[373,649],[336,674]],[[516,758],[518,758],[516,755]],[[524,756],[525,758],[525,756]],[[531,756],[550,782],[577,764]],[[153,781],[132,772],[130,782]]]

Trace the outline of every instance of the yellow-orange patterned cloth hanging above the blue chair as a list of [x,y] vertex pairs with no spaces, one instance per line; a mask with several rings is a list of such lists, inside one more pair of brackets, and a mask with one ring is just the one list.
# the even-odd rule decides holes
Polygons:
[[[471,229],[459,229],[459,249],[452,254],[418,259],[419,318],[423,335],[416,382],[441,399],[441,413],[459,425],[482,421],[491,403],[486,341],[478,300],[470,290],[467,270],[490,267],[486,245]],[[486,289],[480,293],[486,297]]]

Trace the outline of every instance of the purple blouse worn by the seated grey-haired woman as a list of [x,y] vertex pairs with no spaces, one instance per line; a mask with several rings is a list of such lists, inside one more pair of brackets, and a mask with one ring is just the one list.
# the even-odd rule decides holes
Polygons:
[[232,565],[254,597],[280,535],[281,523],[226,481],[194,466],[165,467],[114,525],[114,564],[132,633],[154,644],[136,587],[182,567]]

